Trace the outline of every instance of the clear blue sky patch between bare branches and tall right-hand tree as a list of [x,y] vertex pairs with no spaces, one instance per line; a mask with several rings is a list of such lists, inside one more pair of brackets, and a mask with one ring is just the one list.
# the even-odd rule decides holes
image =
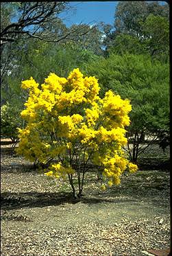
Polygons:
[[86,23],[93,25],[103,21],[113,25],[114,12],[118,1],[75,1],[70,5],[75,10],[60,15],[60,18],[64,19],[64,23],[67,27],[70,27],[74,23]]

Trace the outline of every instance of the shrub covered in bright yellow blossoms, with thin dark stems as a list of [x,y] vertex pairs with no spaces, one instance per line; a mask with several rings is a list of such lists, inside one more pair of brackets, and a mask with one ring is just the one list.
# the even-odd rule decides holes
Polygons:
[[127,143],[125,126],[130,124],[129,100],[112,91],[101,99],[97,79],[84,78],[79,69],[67,79],[50,73],[40,86],[30,78],[22,88],[29,90],[29,98],[21,112],[27,126],[19,129],[18,153],[47,166],[47,176],[67,175],[74,196],[73,176],[81,196],[88,163],[101,168],[102,189],[119,184],[125,170],[137,170],[122,150]]

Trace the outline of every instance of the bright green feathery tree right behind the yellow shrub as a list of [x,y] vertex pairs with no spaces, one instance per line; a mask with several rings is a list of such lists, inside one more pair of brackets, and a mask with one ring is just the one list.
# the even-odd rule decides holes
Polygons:
[[[104,93],[112,89],[131,100],[128,150],[132,161],[137,161],[162,131],[169,132],[169,65],[153,62],[147,55],[112,54],[89,63],[86,72],[99,79]],[[147,136],[144,144],[143,135]]]

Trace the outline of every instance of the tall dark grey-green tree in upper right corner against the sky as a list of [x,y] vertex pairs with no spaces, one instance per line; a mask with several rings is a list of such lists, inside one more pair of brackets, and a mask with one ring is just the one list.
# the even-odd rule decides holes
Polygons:
[[[164,45],[164,48],[167,47],[166,50],[163,48],[163,52],[166,51],[167,55],[169,55],[168,4],[160,5],[158,2],[152,3],[146,1],[121,1],[117,5],[114,14],[114,27],[107,25],[106,27],[108,27],[108,30],[104,30],[104,48],[106,49],[106,54],[111,51],[121,54],[123,50],[125,52],[127,50],[128,53],[132,54],[145,54],[146,51],[148,54],[156,52],[157,58],[159,56],[156,40],[160,38],[157,43],[160,43],[161,46],[159,46],[161,48],[163,48],[162,45]],[[152,39],[151,34],[153,34]],[[132,40],[133,43],[136,43],[136,49],[134,47],[135,45],[132,45]],[[120,45],[122,45],[121,51],[119,49]],[[130,46],[132,47],[130,48]],[[141,47],[143,47],[142,53],[140,53]],[[164,54],[162,55],[162,60],[166,60]]]

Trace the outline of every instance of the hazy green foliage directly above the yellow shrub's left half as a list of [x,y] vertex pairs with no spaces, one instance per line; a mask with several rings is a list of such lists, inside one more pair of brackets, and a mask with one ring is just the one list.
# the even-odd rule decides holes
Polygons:
[[[77,44],[67,43],[54,45],[54,43],[40,40],[29,40],[25,45],[18,43],[12,47],[12,61],[8,64],[2,81],[2,99],[4,101],[18,97],[21,105],[25,102],[27,92],[21,91],[21,80],[33,76],[40,83],[51,72],[66,76],[71,69],[82,69],[84,62],[96,60],[92,51],[82,49]],[[4,59],[5,66],[5,59]]]

